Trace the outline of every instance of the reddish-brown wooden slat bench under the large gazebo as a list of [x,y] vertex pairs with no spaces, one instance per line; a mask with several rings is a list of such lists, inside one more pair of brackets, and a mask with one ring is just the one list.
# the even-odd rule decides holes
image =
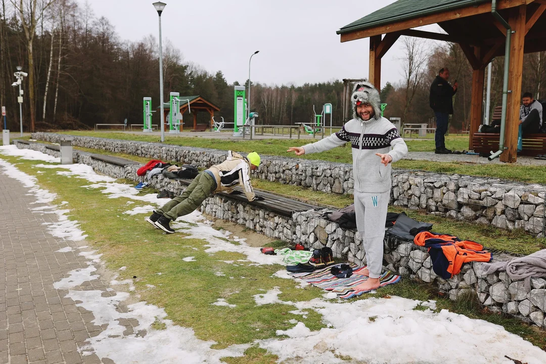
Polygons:
[[[502,106],[496,106],[493,111],[491,123],[501,120]],[[486,153],[498,150],[498,141],[500,134],[496,133],[474,133],[472,136],[472,149],[476,153]],[[546,154],[546,134],[524,134],[523,148],[518,153],[519,156],[535,157],[538,154]]]

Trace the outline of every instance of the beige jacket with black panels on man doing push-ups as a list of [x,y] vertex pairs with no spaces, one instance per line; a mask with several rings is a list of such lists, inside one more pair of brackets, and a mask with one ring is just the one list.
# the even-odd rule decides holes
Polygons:
[[215,177],[217,192],[233,192],[233,186],[240,185],[245,192],[248,201],[253,201],[256,198],[252,186],[250,184],[250,162],[241,154],[228,151],[228,158],[220,164],[213,165],[209,171]]

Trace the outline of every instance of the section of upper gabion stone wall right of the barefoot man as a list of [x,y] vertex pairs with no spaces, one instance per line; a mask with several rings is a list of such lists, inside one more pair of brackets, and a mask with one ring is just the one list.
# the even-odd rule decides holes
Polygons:
[[546,186],[393,170],[394,206],[544,236]]

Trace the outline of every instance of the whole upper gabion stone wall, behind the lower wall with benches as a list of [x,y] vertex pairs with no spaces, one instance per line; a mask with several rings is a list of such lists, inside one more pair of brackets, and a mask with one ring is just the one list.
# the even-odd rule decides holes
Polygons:
[[[38,140],[56,142],[60,134],[33,133]],[[75,136],[74,145],[123,152],[141,157],[177,160],[198,168],[223,162],[225,152],[105,138]],[[349,151],[347,151],[349,152]],[[353,193],[351,164],[263,156],[254,175],[274,182],[332,193]],[[546,228],[546,187],[501,181],[498,178],[392,170],[391,204],[497,228],[523,229],[543,237]]]

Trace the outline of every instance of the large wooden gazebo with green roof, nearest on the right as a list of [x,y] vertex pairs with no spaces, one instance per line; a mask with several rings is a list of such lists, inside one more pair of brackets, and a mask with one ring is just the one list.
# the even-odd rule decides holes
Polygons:
[[[399,0],[337,31],[341,41],[370,38],[369,80],[381,87],[381,58],[401,35],[458,43],[472,66],[470,142],[482,121],[485,67],[505,55],[506,27],[491,13],[491,0]],[[515,162],[524,53],[546,50],[546,0],[497,0],[512,28],[505,151]],[[447,34],[412,29],[436,23]],[[526,42],[527,41],[527,42]]]

